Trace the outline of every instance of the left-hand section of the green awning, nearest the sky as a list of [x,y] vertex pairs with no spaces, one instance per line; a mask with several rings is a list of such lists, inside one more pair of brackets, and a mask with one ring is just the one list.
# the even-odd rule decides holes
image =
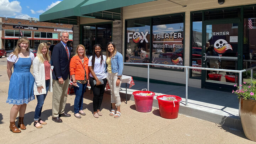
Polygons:
[[88,0],[63,0],[39,16],[39,21],[77,24],[80,15],[80,6]]

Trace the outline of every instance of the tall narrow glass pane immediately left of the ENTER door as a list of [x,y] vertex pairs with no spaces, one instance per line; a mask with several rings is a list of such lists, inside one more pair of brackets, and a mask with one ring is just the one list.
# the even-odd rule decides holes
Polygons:
[[[202,67],[202,12],[191,13],[192,38],[190,51],[190,66]],[[207,66],[210,67],[209,65]],[[191,69],[191,76],[201,78],[201,70]]]

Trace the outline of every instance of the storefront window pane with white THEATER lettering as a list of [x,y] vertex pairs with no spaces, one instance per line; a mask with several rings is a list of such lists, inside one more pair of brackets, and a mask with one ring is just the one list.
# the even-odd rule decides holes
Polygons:
[[[152,18],[151,62],[167,65],[184,65],[183,15],[167,15]],[[159,67],[159,66],[157,66]],[[165,68],[170,68],[166,66]]]

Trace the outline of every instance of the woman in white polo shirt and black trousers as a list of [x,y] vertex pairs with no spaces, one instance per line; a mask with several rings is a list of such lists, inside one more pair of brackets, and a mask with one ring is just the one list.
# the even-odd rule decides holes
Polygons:
[[[88,64],[88,68],[90,70],[89,82],[94,94],[92,102],[94,108],[94,117],[98,118],[99,116],[102,116],[100,107],[107,83],[107,73],[105,72],[106,56],[102,54],[102,46],[100,44],[95,44],[92,49],[92,56],[89,58]],[[94,85],[94,80],[96,81],[96,85]],[[103,84],[101,80],[103,81]]]

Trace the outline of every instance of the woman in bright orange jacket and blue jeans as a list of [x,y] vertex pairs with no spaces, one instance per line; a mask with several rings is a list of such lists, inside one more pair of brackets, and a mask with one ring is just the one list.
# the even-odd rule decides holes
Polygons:
[[88,70],[88,57],[85,54],[85,47],[79,44],[76,47],[76,54],[70,60],[70,75],[72,78],[74,91],[75,91],[75,101],[74,101],[74,116],[76,118],[81,118],[85,115],[82,111],[83,106],[83,95],[86,90],[89,70]]

